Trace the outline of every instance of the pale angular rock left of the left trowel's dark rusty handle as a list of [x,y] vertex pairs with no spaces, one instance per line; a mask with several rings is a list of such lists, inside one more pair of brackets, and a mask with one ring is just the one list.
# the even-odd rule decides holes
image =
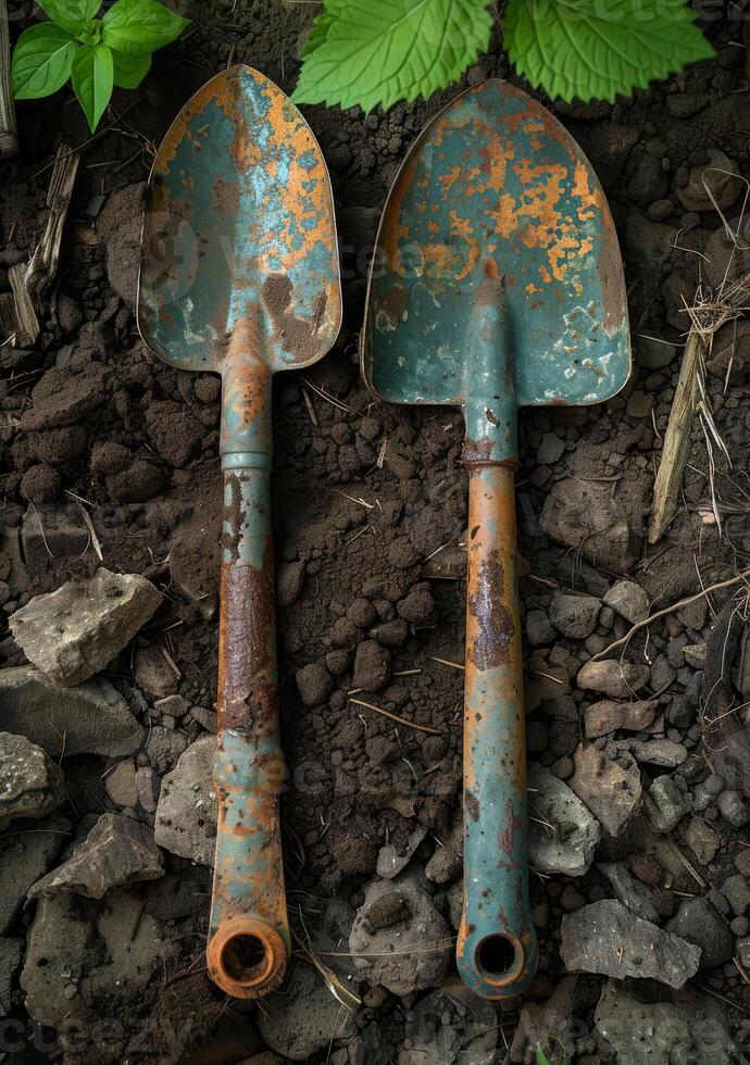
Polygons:
[[103,669],[161,602],[162,593],[145,577],[102,567],[93,577],[35,596],[11,614],[10,626],[28,661],[67,688]]

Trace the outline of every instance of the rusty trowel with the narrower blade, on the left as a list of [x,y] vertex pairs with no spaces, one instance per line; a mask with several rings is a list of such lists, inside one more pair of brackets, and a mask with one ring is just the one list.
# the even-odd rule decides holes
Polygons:
[[186,104],[151,173],[138,325],[180,369],[222,375],[218,834],[209,973],[258,998],[290,951],[284,893],[271,529],[271,377],[321,359],[341,320],[328,172],[297,108],[235,66]]

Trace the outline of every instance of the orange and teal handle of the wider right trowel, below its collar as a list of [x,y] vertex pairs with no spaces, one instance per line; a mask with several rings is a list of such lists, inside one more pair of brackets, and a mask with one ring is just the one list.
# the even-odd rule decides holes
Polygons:
[[514,464],[470,476],[464,697],[464,901],[457,960],[486,999],[536,970],[528,899],[526,742],[516,580]]

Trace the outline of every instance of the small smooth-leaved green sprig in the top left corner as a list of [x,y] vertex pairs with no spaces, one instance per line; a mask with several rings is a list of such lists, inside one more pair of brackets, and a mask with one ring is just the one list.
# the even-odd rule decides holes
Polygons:
[[29,26],[13,50],[13,96],[38,100],[70,79],[95,133],[115,86],[135,89],[151,55],[172,43],[189,18],[160,0],[117,0],[102,18],[101,0],[37,0],[49,22]]

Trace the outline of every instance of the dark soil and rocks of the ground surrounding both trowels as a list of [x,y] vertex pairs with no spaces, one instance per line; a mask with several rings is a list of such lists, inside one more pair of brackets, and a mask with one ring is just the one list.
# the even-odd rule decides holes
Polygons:
[[[334,180],[346,323],[327,359],[275,388],[297,949],[282,992],[254,1007],[225,1001],[203,961],[218,380],[152,358],[134,292],[154,143],[229,60],[290,90],[315,9],[177,5],[195,18],[189,34],[157,57],[141,90],[115,97],[100,136],[89,140],[70,95],[22,104],[22,153],[0,164],[8,290],[8,268],[43,225],[54,152],[84,146],[41,334],[0,348],[0,1060],[489,1065],[535,1062],[540,1044],[553,1063],[745,1061],[748,598],[742,581],[702,594],[741,574],[750,552],[741,320],[714,336],[705,376],[732,465],[696,419],[678,512],[659,543],[646,540],[684,300],[748,268],[746,186],[712,181],[714,204],[702,181],[707,164],[750,176],[740,24],[715,20],[716,60],[668,84],[614,106],[559,109],[612,202],[636,364],[605,406],[522,416],[540,939],[523,1002],[473,999],[452,960],[462,419],[374,402],[355,356],[389,180],[452,90],[387,115],[307,112]],[[467,80],[498,73],[496,47]],[[707,712],[717,724],[704,743]]]

